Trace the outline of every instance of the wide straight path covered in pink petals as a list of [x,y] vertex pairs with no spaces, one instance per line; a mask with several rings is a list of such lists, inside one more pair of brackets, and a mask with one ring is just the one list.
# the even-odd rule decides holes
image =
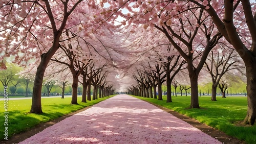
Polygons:
[[116,95],[20,143],[221,143],[130,95]]

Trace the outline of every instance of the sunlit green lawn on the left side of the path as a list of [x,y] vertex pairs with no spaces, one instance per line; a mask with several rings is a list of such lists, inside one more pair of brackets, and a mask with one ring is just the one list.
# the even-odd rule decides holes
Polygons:
[[[87,101],[81,103],[82,98],[78,96],[77,102],[79,105],[71,105],[71,97],[65,99],[60,98],[42,98],[42,114],[29,113],[31,108],[31,99],[27,100],[9,100],[8,101],[8,138],[12,135],[35,127],[44,122],[51,121],[55,118],[61,117],[65,114],[72,113],[84,107],[92,106],[108,98],[98,98],[98,100]],[[0,140],[4,140],[4,101],[0,101]]]

